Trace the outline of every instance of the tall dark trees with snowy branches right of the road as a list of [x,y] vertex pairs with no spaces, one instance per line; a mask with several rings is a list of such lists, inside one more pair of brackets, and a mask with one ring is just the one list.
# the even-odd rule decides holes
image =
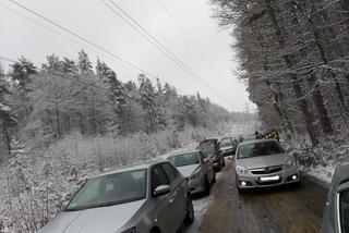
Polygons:
[[313,145],[348,130],[348,1],[212,0],[250,99],[269,127],[308,133]]

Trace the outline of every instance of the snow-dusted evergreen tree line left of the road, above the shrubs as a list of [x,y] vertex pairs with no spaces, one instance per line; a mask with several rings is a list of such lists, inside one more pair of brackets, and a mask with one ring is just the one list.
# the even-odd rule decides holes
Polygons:
[[83,135],[146,134],[185,125],[209,126],[231,114],[196,96],[179,95],[159,79],[140,74],[123,83],[105,62],[93,68],[82,50],[76,61],[47,57],[41,68],[20,58],[10,72],[0,73],[0,135],[3,148],[20,136],[36,146],[49,146],[73,131]]

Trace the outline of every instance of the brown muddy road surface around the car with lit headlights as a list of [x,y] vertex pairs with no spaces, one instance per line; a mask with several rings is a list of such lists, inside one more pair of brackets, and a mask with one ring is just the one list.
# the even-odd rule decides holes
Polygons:
[[320,232],[327,188],[303,175],[300,187],[282,186],[244,194],[234,186],[227,160],[214,188],[214,200],[200,225],[201,233]]

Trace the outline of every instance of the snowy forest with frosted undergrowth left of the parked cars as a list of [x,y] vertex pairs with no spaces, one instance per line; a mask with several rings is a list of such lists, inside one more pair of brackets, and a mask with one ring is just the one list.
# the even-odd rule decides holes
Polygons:
[[254,119],[159,78],[122,82],[86,52],[0,71],[0,232],[37,232],[89,175],[143,162]]

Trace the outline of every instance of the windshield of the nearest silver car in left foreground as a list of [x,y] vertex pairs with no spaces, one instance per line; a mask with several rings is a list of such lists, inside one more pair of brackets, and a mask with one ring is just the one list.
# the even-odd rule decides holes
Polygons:
[[113,173],[88,180],[64,211],[113,206],[145,197],[145,169]]

